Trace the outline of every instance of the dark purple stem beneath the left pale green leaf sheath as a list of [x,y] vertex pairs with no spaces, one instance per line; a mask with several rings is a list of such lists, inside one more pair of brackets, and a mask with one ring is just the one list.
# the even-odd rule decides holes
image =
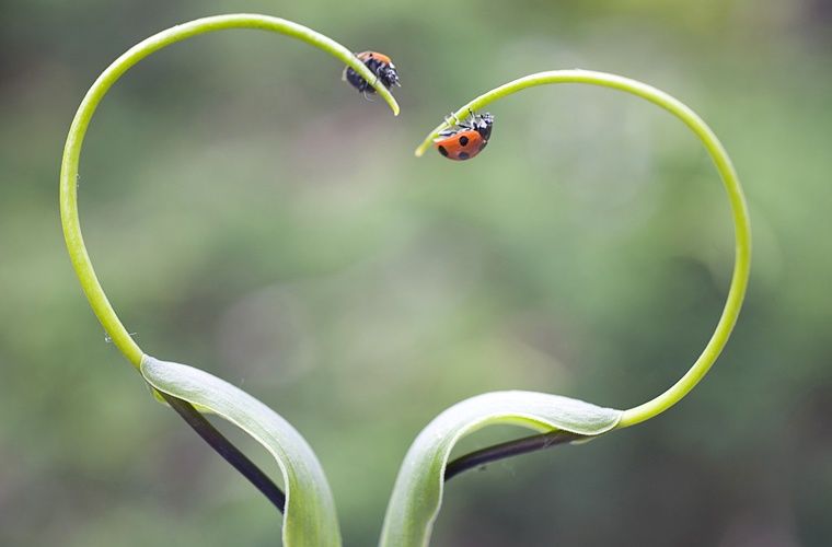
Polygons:
[[164,392],[158,393],[169,405],[171,405],[171,408],[176,410],[187,424],[190,426],[203,440],[205,440],[205,442],[217,451],[226,462],[231,464],[234,469],[247,478],[257,490],[263,492],[263,494],[274,503],[278,511],[284,512],[284,508],[286,507],[286,494],[284,494],[282,490],[280,490],[280,488],[278,488],[277,485],[275,485],[275,482],[254,464],[254,462],[249,459],[249,457],[240,452],[231,441],[226,439],[226,437],[220,433],[219,430],[217,430],[217,428],[215,428],[211,422],[201,415],[201,412],[194,408],[190,403],[167,395]]

